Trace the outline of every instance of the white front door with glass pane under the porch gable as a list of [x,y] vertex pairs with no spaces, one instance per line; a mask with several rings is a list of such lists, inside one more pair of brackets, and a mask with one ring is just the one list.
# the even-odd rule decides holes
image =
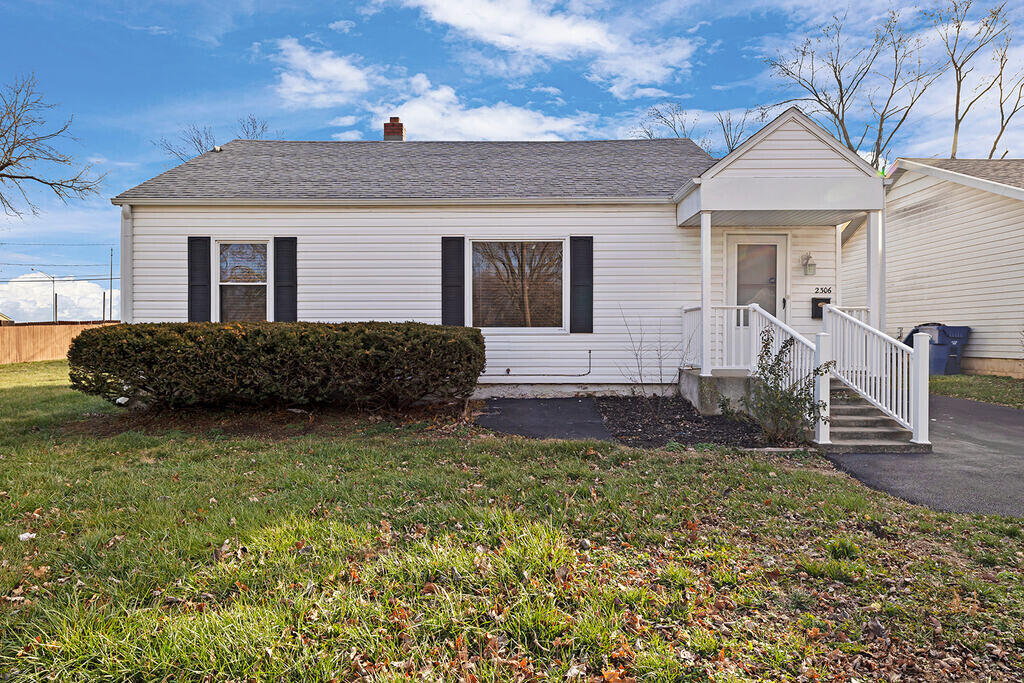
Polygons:
[[[730,234],[726,240],[726,304],[756,303],[783,323],[786,311],[784,234]],[[745,367],[751,357],[748,311],[731,311],[726,327],[726,365]]]

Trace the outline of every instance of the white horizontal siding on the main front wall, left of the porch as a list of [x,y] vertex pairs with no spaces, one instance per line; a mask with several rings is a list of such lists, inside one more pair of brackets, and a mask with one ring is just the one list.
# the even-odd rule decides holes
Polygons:
[[[301,321],[440,323],[442,236],[482,240],[594,238],[594,332],[488,331],[483,382],[624,383],[643,337],[647,381],[675,381],[680,307],[699,300],[698,241],[675,207],[409,209],[136,207],[134,319],[185,321],[188,236],[298,238]],[[467,246],[468,249],[468,246]],[[568,264],[566,263],[566,268]],[[470,283],[467,281],[467,288]],[[467,311],[468,314],[468,311]],[[664,368],[657,377],[657,349]],[[585,377],[552,377],[587,372]],[[509,377],[505,377],[506,370]]]

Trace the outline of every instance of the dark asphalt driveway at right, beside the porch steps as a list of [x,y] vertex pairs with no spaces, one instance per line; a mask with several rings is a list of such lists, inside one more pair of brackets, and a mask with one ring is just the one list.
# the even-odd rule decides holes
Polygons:
[[872,488],[949,512],[1024,517],[1024,411],[932,396],[927,455],[829,456]]

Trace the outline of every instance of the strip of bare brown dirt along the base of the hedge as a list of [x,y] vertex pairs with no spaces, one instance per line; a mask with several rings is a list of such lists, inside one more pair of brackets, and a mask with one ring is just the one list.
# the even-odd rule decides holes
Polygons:
[[402,427],[421,425],[428,429],[449,432],[467,422],[469,414],[461,403],[429,404],[404,413],[362,413],[337,407],[308,409],[231,409],[187,411],[123,411],[89,415],[63,426],[71,436],[108,437],[127,431],[162,434],[169,431],[187,433],[216,432],[225,436],[256,437],[279,440],[316,434],[345,436],[365,432],[375,426]]

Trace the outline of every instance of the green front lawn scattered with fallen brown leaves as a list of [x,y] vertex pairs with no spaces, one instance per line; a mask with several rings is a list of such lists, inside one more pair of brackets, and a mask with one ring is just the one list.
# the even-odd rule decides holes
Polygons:
[[284,412],[250,416],[264,436],[124,431],[66,372],[0,368],[0,680],[1024,667],[1020,521],[914,507],[816,456]]

